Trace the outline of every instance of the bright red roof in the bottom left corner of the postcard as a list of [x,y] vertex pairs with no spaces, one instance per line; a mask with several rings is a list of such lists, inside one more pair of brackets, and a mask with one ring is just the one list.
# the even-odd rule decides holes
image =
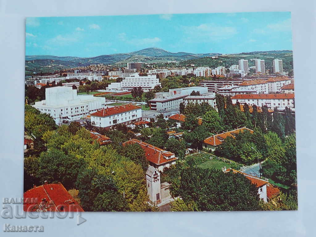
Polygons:
[[[32,200],[29,202],[28,200]],[[24,211],[84,211],[61,183],[34,186],[24,193]]]

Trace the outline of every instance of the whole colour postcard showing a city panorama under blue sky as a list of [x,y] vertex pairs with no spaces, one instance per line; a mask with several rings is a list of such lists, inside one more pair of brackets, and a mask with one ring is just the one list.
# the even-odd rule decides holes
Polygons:
[[290,12],[26,19],[25,211],[297,210]]

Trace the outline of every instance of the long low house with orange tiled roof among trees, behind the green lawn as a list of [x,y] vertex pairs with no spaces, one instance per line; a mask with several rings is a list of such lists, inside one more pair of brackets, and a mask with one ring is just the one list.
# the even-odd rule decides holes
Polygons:
[[228,132],[223,132],[220,134],[213,135],[212,137],[208,137],[203,141],[203,146],[207,149],[211,149],[214,151],[217,146],[221,145],[226,137],[236,137],[236,135],[240,132],[249,131],[253,133],[253,131],[249,128],[243,127],[239,129],[235,129]]

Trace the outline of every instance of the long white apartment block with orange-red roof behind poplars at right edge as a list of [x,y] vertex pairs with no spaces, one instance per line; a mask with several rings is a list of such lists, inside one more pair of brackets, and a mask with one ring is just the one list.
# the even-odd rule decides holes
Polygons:
[[248,104],[248,106],[264,106],[268,109],[274,109],[276,107],[293,108],[294,105],[294,94],[237,94],[232,98],[233,104],[239,102],[240,104]]

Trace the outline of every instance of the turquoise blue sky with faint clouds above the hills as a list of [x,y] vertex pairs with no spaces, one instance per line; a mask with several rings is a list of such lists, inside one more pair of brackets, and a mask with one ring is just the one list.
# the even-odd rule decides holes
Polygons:
[[41,17],[26,20],[26,55],[95,57],[292,50],[290,12]]

